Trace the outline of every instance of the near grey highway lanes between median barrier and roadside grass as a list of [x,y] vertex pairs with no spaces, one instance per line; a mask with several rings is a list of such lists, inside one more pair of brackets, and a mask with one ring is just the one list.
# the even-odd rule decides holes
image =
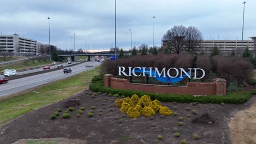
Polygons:
[[28,89],[28,88],[43,85],[44,83],[60,80],[65,77],[75,75],[83,71],[86,71],[89,68],[92,68],[92,67],[85,67],[86,65],[94,65],[94,67],[96,67],[97,65],[100,65],[100,62],[90,61],[90,62],[85,62],[82,64],[71,66],[70,68],[72,69],[72,73],[64,74],[63,69],[60,69],[60,70],[51,71],[49,73],[28,76],[28,77],[24,77],[16,80],[10,80],[8,83],[0,84],[0,97],[4,95],[16,93],[19,91],[24,91],[25,89]]

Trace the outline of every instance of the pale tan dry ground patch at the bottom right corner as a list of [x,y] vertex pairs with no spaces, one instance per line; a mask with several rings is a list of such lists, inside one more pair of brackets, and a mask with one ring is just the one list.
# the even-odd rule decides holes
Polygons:
[[249,109],[236,113],[229,122],[234,144],[256,143],[256,98]]

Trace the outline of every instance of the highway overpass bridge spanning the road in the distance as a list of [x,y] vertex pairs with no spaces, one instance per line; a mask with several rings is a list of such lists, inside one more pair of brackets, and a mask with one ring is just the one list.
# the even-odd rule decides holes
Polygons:
[[[90,58],[93,56],[114,56],[115,53],[105,53],[105,52],[87,52],[87,53],[80,53],[80,54],[68,54],[68,55],[58,55],[59,57],[71,57],[71,61],[74,61],[74,57],[75,56],[87,56],[88,57],[88,61],[90,61]],[[117,56],[119,54],[117,53]],[[124,53],[125,56],[129,56],[129,53]]]

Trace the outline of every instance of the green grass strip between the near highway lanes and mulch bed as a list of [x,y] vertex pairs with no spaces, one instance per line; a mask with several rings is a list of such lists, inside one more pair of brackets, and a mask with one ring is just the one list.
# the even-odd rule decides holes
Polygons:
[[93,75],[90,70],[84,71],[63,80],[28,89],[11,98],[0,99],[0,125],[40,106],[65,99],[81,91],[89,86],[93,76],[98,75],[98,70],[99,67],[96,67]]

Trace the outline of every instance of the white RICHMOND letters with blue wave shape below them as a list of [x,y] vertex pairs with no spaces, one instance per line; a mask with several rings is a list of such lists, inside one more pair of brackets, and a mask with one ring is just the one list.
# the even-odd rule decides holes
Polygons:
[[[197,72],[201,71],[202,76],[197,77]],[[191,76],[191,72],[194,72],[194,75]],[[138,74],[140,73],[140,74]],[[172,75],[171,75],[172,74]],[[183,68],[162,68],[162,70],[158,70],[158,68],[146,68],[146,67],[128,67],[127,70],[125,67],[118,67],[118,75],[125,76],[146,76],[153,77],[154,79],[165,82],[165,83],[175,83],[182,81],[186,77],[189,79],[202,79],[205,76],[205,71],[200,68],[188,68],[188,70],[184,70]]]

